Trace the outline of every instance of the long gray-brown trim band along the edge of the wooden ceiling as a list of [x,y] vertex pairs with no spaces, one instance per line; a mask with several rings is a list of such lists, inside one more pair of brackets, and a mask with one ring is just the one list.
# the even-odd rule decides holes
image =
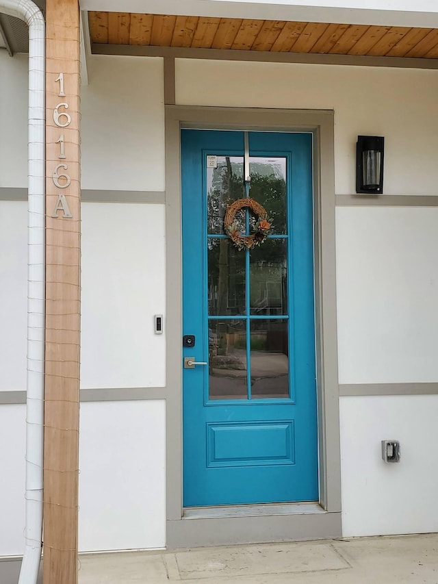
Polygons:
[[131,57],[172,57],[175,59],[211,59],[220,61],[261,61],[271,63],[438,69],[438,59],[368,57],[366,55],[329,55],[327,53],[276,53],[271,51],[237,51],[235,49],[144,47],[142,45],[103,45],[96,42],[92,43],[91,52],[94,55],[125,55]]

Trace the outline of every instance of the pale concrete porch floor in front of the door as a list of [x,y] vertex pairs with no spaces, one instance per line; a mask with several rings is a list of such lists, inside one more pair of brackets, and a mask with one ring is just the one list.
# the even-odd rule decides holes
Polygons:
[[438,533],[81,555],[79,584],[438,584]]

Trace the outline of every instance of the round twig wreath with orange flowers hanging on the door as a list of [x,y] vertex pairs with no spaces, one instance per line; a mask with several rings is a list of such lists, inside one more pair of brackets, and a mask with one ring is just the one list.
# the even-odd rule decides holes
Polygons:
[[[250,236],[242,236],[240,229],[235,221],[235,214],[241,209],[249,209],[250,212],[257,218],[254,232]],[[242,249],[253,249],[257,245],[261,245],[270,233],[272,227],[272,219],[268,217],[268,213],[260,203],[254,199],[237,199],[234,203],[227,206],[224,218],[224,231],[231,239],[233,244],[242,251]]]

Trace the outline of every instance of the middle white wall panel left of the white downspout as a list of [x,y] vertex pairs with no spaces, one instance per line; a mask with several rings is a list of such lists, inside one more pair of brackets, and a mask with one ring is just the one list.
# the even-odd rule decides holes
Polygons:
[[23,391],[27,367],[25,201],[0,201],[0,282],[0,392]]

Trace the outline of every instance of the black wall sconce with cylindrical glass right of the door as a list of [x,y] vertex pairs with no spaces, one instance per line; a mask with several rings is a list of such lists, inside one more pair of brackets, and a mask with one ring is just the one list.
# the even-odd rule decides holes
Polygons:
[[357,136],[356,192],[383,192],[383,136]]

